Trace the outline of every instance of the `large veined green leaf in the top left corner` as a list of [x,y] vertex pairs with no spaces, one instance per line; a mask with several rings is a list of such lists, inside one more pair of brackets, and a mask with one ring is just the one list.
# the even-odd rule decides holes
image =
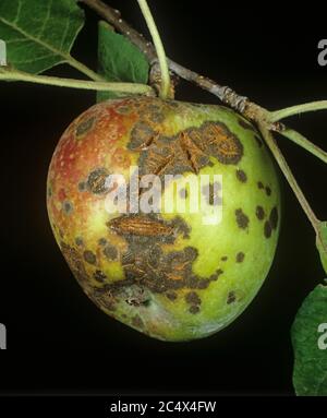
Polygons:
[[74,0],[1,0],[0,38],[17,70],[40,73],[72,60],[70,50],[83,27]]

